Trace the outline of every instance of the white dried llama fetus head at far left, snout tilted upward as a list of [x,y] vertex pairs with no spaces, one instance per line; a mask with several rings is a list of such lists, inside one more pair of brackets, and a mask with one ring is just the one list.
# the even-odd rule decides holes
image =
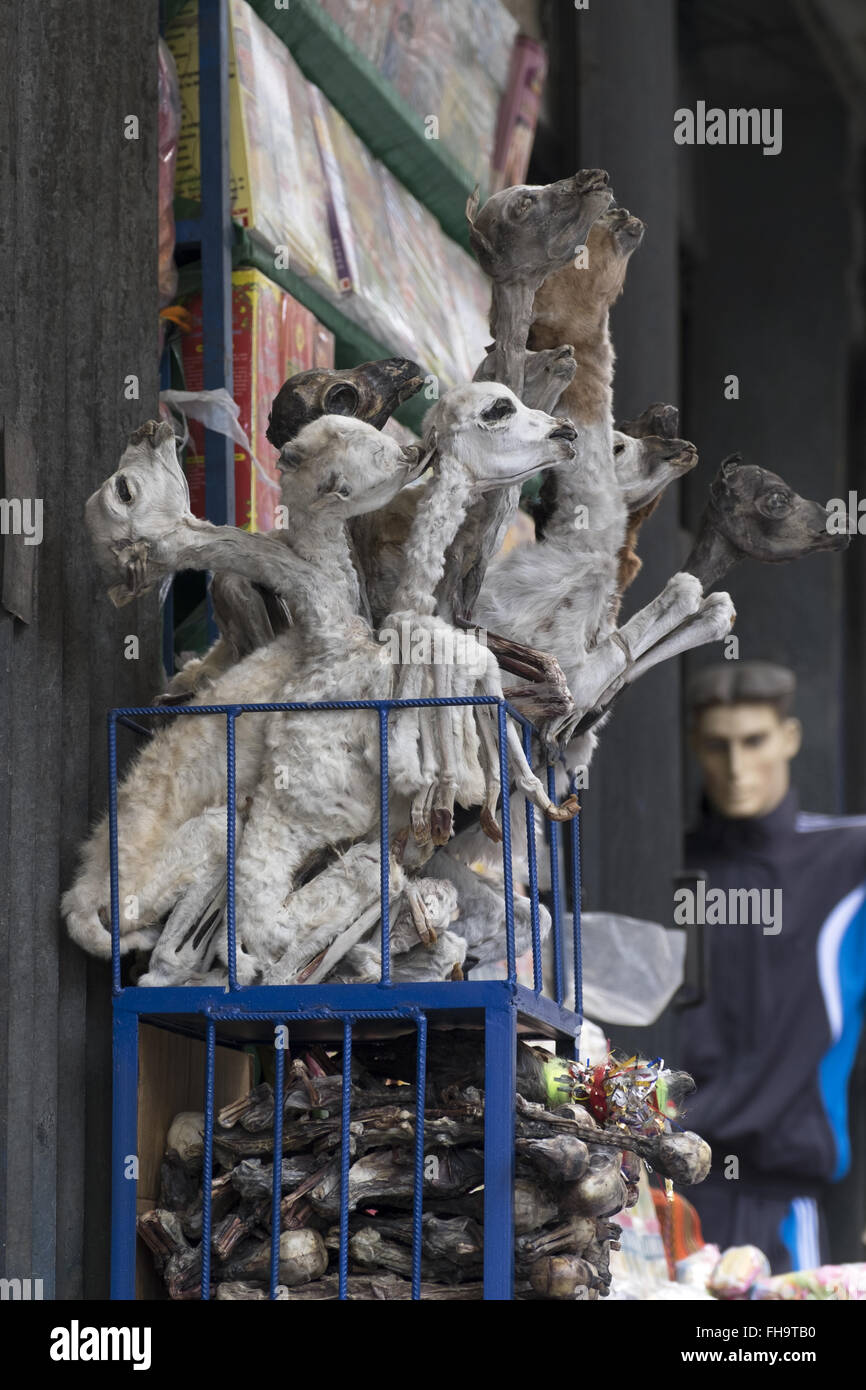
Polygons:
[[164,420],[146,420],[129,435],[115,471],[85,505],[85,527],[103,575],[115,580],[118,567],[126,573],[125,587],[108,589],[115,605],[149,588],[149,552],[183,516],[190,516],[189,488],[174,430]]

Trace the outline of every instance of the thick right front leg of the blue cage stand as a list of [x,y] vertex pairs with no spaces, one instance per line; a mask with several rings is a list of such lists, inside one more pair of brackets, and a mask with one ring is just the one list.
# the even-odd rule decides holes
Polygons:
[[514,1091],[517,1011],[488,1009],[484,1019],[484,1298],[514,1290]]

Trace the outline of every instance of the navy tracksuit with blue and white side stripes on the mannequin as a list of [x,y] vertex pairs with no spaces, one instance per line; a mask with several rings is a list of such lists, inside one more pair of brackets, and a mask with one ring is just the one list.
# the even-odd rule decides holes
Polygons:
[[[685,1125],[713,1148],[689,1190],[706,1240],[756,1244],[773,1272],[812,1268],[820,1197],[849,1166],[848,1077],[866,1004],[866,817],[705,809],[685,863],[708,888],[781,890],[781,931],[705,926],[708,998],[681,1015],[677,1063],[692,1073]],[[738,1177],[726,1179],[727,1170]]]

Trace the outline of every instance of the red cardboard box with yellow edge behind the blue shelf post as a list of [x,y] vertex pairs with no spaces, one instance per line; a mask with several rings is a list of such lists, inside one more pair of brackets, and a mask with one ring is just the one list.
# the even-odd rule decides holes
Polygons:
[[[186,306],[193,328],[183,338],[183,375],[188,391],[203,389],[202,296]],[[232,275],[232,350],[239,420],[256,459],[271,485],[259,474],[249,453],[235,449],[235,524],[250,531],[271,531],[279,502],[277,450],[265,438],[274,396],[286,377],[310,367],[334,366],[334,335],[257,270]],[[204,428],[189,423],[186,478],[190,506],[204,516]]]

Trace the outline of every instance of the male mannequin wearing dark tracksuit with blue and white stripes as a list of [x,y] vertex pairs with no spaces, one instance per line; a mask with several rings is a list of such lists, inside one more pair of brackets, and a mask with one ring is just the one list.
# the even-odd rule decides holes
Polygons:
[[706,997],[681,1015],[678,1058],[698,1083],[688,1125],[710,1143],[713,1170],[689,1198],[705,1240],[759,1245],[774,1273],[830,1257],[822,1201],[849,1166],[866,1001],[866,817],[799,815],[794,694],[784,667],[726,662],[687,696],[705,792],[687,866],[708,899],[759,890],[784,908],[771,933],[709,915],[702,927]]

